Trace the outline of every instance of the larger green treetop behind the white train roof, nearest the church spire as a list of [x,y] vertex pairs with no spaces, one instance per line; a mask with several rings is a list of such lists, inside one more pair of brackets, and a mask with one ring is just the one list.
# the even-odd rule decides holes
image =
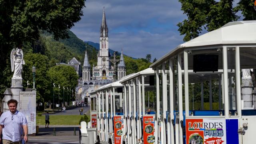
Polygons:
[[184,42],[199,36],[203,28],[208,32],[238,19],[232,10],[234,0],[179,0],[181,10],[188,16],[177,26]]

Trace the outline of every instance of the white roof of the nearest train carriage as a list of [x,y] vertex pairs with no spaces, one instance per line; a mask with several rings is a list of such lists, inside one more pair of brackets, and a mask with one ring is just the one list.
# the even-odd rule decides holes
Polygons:
[[159,66],[170,57],[184,50],[184,48],[202,47],[203,49],[206,46],[209,47],[213,45],[238,46],[242,44],[256,44],[256,20],[229,22],[217,30],[213,30],[180,44],[151,64],[150,68]]

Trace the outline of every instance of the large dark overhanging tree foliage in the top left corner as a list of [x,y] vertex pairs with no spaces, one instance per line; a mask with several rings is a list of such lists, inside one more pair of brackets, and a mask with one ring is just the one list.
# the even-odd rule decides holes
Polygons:
[[41,30],[56,40],[67,38],[67,29],[81,19],[84,6],[84,0],[0,0],[0,69],[6,67],[13,47],[33,45]]

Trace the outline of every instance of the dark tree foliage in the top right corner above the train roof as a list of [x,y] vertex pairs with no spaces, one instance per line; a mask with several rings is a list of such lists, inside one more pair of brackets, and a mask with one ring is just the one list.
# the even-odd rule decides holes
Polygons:
[[234,12],[241,11],[244,16],[243,20],[256,20],[256,11],[254,10],[255,0],[240,0],[234,8]]

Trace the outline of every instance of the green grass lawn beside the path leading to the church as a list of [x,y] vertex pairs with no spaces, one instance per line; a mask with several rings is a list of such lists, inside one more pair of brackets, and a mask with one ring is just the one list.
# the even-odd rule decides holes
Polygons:
[[[90,115],[87,115],[90,119]],[[60,115],[51,116],[50,115],[50,125],[80,125],[80,118],[84,116],[80,115]],[[45,125],[45,115],[36,115],[36,125]]]

